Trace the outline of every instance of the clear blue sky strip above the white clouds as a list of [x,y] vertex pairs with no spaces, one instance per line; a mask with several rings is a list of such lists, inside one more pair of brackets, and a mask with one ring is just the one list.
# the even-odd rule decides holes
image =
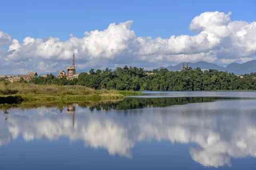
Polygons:
[[82,37],[84,31],[102,30],[112,22],[133,20],[137,36],[168,38],[194,35],[190,21],[206,11],[232,12],[232,20],[254,21],[254,0],[26,0],[1,2],[0,29],[18,40],[26,36]]

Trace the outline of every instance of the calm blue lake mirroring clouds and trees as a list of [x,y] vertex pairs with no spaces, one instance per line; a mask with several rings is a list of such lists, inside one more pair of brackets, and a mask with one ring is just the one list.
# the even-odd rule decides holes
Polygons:
[[256,92],[144,92],[0,110],[1,170],[252,170]]

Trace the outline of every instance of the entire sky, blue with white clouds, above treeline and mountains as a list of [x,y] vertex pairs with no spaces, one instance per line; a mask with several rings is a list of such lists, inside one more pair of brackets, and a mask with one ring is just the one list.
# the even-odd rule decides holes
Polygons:
[[206,61],[226,66],[256,57],[256,2],[4,1],[0,74],[145,69]]

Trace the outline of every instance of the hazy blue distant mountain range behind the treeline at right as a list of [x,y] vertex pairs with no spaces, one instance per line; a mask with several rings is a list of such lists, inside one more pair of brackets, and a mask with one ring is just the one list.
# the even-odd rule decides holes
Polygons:
[[[160,68],[167,68],[168,70],[177,71],[182,70],[182,64],[183,63],[177,64],[175,66]],[[217,64],[213,63],[207,63],[205,61],[199,61],[197,63],[188,63],[188,66],[192,68],[200,67],[201,69],[215,69],[219,71],[233,72],[234,74],[250,74],[251,72],[256,72],[256,60],[248,61],[243,64],[231,63],[226,67],[218,66]]]

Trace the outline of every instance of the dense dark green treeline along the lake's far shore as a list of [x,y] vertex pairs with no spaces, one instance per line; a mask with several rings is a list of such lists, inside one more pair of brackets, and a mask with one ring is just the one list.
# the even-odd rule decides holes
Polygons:
[[202,71],[200,68],[182,71],[167,69],[146,71],[143,68],[127,67],[116,70],[90,70],[78,78],[67,80],[50,74],[38,77],[34,84],[82,85],[94,89],[116,90],[256,90],[256,74],[237,76],[218,70]]

